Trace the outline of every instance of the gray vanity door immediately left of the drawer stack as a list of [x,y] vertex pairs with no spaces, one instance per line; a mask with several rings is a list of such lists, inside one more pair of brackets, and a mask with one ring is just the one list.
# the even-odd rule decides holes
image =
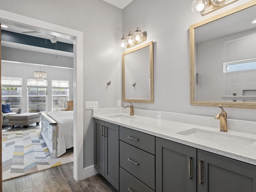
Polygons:
[[119,127],[105,122],[105,178],[119,190]]

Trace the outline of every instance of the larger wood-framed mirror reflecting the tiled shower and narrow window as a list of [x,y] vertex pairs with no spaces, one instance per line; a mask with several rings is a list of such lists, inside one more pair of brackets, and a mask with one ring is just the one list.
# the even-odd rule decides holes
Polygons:
[[256,108],[255,13],[248,2],[190,26],[190,104]]

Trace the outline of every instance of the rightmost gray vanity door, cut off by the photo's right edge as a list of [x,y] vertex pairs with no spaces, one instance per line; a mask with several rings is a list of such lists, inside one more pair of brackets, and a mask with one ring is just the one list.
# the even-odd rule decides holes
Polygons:
[[256,166],[198,150],[198,192],[256,192]]

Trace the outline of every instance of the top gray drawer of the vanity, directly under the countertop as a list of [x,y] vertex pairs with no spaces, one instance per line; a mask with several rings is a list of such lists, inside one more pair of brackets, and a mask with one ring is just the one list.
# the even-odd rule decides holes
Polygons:
[[155,154],[155,136],[120,126],[119,139],[146,152]]

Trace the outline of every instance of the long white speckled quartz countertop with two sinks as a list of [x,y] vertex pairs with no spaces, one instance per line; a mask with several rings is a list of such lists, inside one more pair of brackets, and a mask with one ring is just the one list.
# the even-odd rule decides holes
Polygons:
[[[192,146],[194,148],[256,165],[255,134],[236,131],[220,132],[219,127],[210,128],[206,126],[198,126],[194,124],[162,120],[145,116],[130,116],[129,114],[125,113],[101,114],[93,115],[92,117],[144,132],[156,137],[164,138],[170,141],[185,144],[187,146]],[[194,130],[196,130],[198,133],[206,133],[206,136],[202,136],[201,138],[199,134],[199,138],[196,138],[194,136],[186,135]],[[212,134],[212,137],[209,136],[209,134]],[[214,138],[215,135],[217,135],[217,139]],[[223,143],[218,140],[219,137],[227,138],[227,140],[231,138],[231,140]],[[248,141],[251,142],[251,144],[247,146],[236,144],[236,140],[232,140],[233,138],[236,138],[239,141],[242,139],[242,142]]]

